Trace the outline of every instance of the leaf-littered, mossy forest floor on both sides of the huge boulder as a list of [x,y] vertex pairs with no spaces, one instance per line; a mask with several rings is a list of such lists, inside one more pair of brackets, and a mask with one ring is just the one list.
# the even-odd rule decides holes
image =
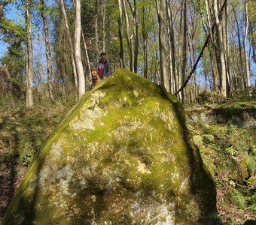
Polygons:
[[[0,110],[0,223],[32,157],[71,106],[47,104],[31,110]],[[187,126],[215,180],[219,224],[239,225],[248,219],[256,220],[256,126]]]

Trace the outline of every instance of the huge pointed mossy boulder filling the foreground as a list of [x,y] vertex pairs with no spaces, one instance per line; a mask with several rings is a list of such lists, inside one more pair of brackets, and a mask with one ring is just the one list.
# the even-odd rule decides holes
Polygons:
[[215,185],[173,95],[120,69],[33,160],[3,224],[215,224]]

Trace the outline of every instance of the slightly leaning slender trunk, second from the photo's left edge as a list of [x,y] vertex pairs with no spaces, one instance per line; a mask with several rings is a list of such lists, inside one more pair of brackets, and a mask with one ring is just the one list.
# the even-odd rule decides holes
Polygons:
[[47,61],[47,88],[48,88],[48,93],[50,96],[51,101],[54,101],[53,98],[53,87],[52,87],[52,77],[53,77],[53,69],[50,63],[50,42],[49,42],[49,29],[48,29],[48,22],[47,22],[47,17],[44,14],[44,0],[40,0],[41,2],[41,17],[43,18],[43,23],[44,23],[44,42],[45,42],[45,55],[46,55],[46,61]]

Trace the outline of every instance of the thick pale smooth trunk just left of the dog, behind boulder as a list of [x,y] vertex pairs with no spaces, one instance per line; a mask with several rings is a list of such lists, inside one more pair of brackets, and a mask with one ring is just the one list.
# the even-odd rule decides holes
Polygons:
[[84,68],[81,60],[81,2],[75,0],[75,65],[78,73],[78,98],[85,93]]

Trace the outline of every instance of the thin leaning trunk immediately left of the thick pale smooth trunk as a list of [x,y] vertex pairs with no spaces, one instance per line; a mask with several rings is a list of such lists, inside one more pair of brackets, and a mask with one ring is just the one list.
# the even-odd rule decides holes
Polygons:
[[69,40],[69,47],[71,49],[72,68],[73,68],[75,86],[78,88],[78,74],[77,74],[77,68],[76,68],[76,65],[75,65],[75,52],[74,52],[74,47],[73,47],[73,44],[72,44],[72,38],[71,38],[71,35],[70,35],[70,31],[69,31],[69,23],[68,23],[68,19],[67,19],[67,16],[66,16],[65,5],[64,5],[63,0],[58,0],[58,2],[59,2],[59,6],[62,10],[62,16],[63,16],[64,23],[65,23],[66,34],[67,34],[68,40]]

